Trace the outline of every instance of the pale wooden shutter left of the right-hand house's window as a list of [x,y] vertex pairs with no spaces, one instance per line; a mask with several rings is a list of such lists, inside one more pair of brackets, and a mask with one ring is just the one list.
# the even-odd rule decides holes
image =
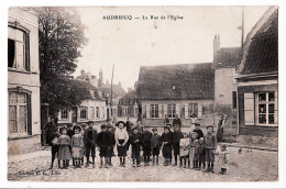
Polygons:
[[254,93],[244,93],[245,125],[254,125]]

